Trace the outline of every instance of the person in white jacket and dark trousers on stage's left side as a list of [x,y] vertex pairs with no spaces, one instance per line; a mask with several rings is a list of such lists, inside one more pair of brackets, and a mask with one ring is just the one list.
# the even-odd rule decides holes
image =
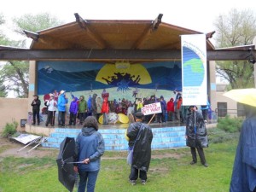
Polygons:
[[57,102],[55,101],[55,96],[53,94],[49,94],[49,100],[46,102],[46,106],[48,108],[48,115],[45,126],[48,126],[49,124],[54,126]]

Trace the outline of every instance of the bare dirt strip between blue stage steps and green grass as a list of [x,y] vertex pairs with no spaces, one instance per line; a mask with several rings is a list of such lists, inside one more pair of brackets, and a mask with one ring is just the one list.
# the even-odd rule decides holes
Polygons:
[[[33,157],[44,157],[44,156],[55,156],[57,157],[59,153],[58,148],[42,148],[38,147],[35,149],[32,149],[32,151],[29,152],[31,148],[34,146],[28,146],[27,148],[23,148],[25,145],[22,143],[17,143],[13,141],[9,141],[8,138],[0,137],[0,160],[4,157],[8,156],[15,156],[15,157],[23,157],[23,158],[33,158]],[[21,149],[21,150],[20,150]],[[116,154],[117,156],[108,156],[103,155],[102,160],[119,160],[119,159],[126,159],[126,152],[120,152],[119,154]],[[179,159],[181,157],[180,154],[176,153],[152,153],[152,159],[165,159],[165,158],[173,158],[173,159]]]

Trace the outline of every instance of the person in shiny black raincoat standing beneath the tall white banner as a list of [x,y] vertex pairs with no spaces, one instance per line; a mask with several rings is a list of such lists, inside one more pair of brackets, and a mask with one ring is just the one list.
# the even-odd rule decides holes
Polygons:
[[197,111],[196,106],[189,107],[189,114],[186,120],[186,144],[190,147],[192,154],[191,165],[197,162],[196,151],[200,156],[201,164],[208,166],[203,148],[208,147],[207,128],[201,113]]

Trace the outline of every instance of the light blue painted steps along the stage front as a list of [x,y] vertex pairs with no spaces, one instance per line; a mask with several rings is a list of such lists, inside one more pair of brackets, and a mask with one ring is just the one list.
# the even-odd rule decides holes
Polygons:
[[[60,148],[60,144],[65,137],[76,138],[81,129],[55,128],[55,131],[49,135],[44,148]],[[183,148],[185,142],[185,127],[162,127],[152,128],[154,137],[152,148]],[[105,141],[105,149],[110,151],[127,150],[128,142],[125,139],[125,129],[104,129],[99,130]]]

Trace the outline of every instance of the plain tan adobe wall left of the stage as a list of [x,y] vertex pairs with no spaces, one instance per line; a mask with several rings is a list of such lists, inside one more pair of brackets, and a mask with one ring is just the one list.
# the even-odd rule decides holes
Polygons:
[[0,98],[0,132],[6,123],[17,121],[18,131],[25,131],[20,127],[20,119],[27,119],[27,98]]

